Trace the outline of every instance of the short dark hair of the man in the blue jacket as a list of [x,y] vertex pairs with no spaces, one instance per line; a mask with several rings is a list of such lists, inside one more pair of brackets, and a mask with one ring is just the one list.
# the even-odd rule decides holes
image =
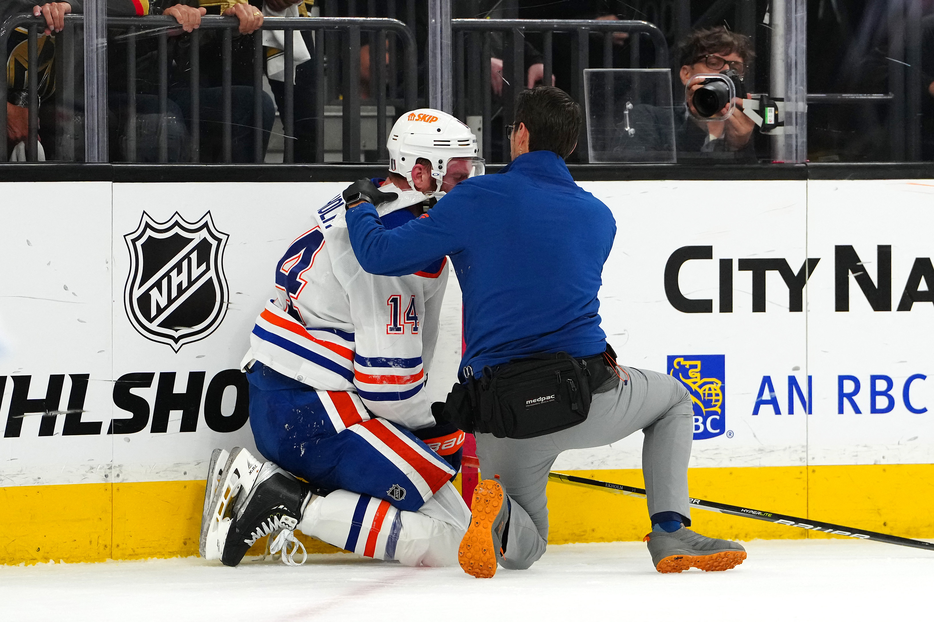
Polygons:
[[567,158],[577,145],[581,107],[563,90],[536,87],[519,92],[514,122],[517,127],[525,123],[530,151],[554,151]]

